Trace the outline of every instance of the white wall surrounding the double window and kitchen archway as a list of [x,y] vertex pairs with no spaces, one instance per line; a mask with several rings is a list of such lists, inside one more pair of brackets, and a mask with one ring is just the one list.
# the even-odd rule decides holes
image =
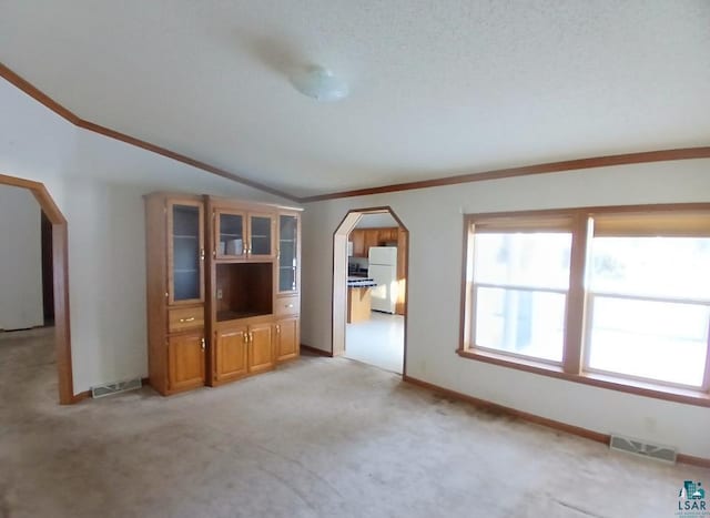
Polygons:
[[463,213],[710,201],[710,160],[627,165],[306,205],[302,341],[331,349],[333,232],[349,209],[390,205],[409,230],[407,374],[581,426],[710,458],[710,408],[565,382],[459,357]]

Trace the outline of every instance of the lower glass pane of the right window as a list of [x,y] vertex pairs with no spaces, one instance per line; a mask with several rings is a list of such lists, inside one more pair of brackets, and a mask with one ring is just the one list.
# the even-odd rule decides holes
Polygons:
[[710,307],[594,297],[589,367],[702,385]]

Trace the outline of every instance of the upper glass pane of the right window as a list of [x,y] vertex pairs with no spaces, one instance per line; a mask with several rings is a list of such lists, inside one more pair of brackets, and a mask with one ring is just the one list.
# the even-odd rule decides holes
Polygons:
[[595,237],[592,291],[710,301],[710,238]]

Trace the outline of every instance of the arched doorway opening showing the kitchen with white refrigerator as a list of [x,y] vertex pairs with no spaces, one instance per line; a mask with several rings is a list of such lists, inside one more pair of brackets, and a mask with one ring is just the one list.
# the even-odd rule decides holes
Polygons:
[[408,231],[390,207],[349,211],[333,237],[333,355],[406,374]]

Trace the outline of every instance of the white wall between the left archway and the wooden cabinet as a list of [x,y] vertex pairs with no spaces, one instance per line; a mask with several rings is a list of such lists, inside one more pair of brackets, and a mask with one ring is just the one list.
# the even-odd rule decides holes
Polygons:
[[142,195],[164,190],[285,201],[77,129],[3,80],[0,113],[0,174],[44,183],[68,221],[74,393],[145,377]]

